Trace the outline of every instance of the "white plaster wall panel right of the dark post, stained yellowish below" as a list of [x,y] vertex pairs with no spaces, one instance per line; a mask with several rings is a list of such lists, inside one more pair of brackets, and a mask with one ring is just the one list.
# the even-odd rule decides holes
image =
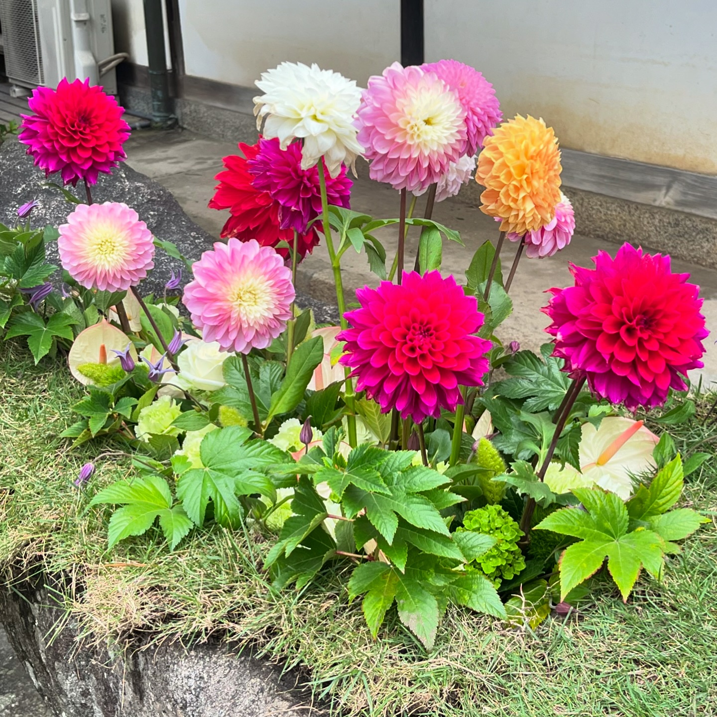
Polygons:
[[424,0],[426,59],[493,82],[561,145],[717,174],[715,0]]

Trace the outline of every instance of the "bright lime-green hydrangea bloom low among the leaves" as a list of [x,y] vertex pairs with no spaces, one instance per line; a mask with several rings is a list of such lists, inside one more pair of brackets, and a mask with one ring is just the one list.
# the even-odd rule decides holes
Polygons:
[[493,536],[495,546],[475,560],[475,565],[498,588],[503,579],[512,579],[526,566],[518,540],[523,536],[518,523],[500,507],[486,505],[477,511],[468,511],[463,527],[457,531],[473,531]]

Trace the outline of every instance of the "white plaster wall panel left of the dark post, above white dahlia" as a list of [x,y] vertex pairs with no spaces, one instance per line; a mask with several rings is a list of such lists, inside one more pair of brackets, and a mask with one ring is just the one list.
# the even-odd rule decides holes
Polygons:
[[365,87],[401,57],[398,0],[180,0],[179,13],[186,74],[232,85],[289,60]]

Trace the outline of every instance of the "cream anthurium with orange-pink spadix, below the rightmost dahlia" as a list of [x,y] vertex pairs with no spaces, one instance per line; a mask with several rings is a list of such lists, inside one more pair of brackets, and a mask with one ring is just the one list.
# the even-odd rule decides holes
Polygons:
[[602,419],[598,429],[586,423],[579,446],[580,473],[566,464],[558,473],[549,471],[545,482],[554,493],[599,485],[627,500],[632,477],[655,470],[652,454],[658,440],[642,421],[622,416]]

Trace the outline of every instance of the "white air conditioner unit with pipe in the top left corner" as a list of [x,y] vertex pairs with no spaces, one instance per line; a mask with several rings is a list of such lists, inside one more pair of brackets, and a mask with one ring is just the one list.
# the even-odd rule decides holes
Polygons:
[[0,0],[5,71],[14,95],[63,77],[117,93],[110,0]]

